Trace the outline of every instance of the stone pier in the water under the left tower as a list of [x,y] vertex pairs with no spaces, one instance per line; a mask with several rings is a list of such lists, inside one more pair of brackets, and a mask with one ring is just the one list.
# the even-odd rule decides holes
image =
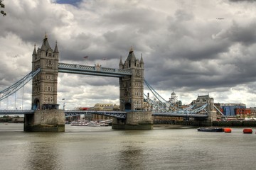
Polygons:
[[63,110],[41,110],[25,115],[24,131],[65,132],[65,113]]

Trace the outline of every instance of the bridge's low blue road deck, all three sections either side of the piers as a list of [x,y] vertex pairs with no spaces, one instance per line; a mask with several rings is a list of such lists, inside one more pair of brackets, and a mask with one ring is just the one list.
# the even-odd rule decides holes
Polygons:
[[[33,114],[33,110],[0,110],[0,115],[26,115]],[[124,111],[64,111],[65,117],[71,117],[75,115],[83,114],[97,114],[97,115],[107,115],[113,118],[125,119],[127,112]],[[190,113],[152,113],[156,116],[169,116],[169,117],[185,117],[185,118],[208,118],[206,114],[190,114]]]

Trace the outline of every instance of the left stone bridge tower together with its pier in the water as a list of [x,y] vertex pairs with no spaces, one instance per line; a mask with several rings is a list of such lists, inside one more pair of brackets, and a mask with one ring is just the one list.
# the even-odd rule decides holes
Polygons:
[[41,70],[32,80],[35,113],[25,115],[24,131],[65,131],[65,114],[57,104],[58,60],[57,42],[53,50],[46,35],[41,48],[33,50],[32,71]]

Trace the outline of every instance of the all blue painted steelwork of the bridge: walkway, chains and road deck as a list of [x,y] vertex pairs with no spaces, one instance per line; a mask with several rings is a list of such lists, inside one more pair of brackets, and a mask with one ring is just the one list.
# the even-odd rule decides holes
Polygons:
[[[7,89],[4,89],[0,92],[0,101],[11,94],[14,94],[18,89],[21,89],[22,86],[24,86],[28,81],[33,79],[33,77],[36,76],[40,72],[40,69],[37,69],[35,72],[30,72],[26,75],[26,77],[23,77],[23,79],[17,81],[14,85],[10,86]],[[132,75],[131,70],[122,70],[122,69],[112,69],[112,68],[105,68],[101,67],[99,65],[95,65],[95,67],[92,66],[86,66],[86,65],[80,65],[80,64],[65,64],[65,63],[59,63],[58,65],[58,72],[63,73],[73,73],[73,74],[88,74],[88,75],[96,75],[96,76],[105,76],[105,77],[124,77],[124,76],[130,76]],[[191,108],[186,108],[181,111],[177,111],[176,108],[174,108],[171,103],[166,101],[164,98],[162,98],[150,85],[149,83],[144,80],[146,83],[146,86],[149,87],[150,91],[156,96],[157,99],[159,99],[160,103],[165,107],[164,113],[152,113],[152,115],[164,115],[164,116],[178,116],[178,117],[203,117],[206,118],[207,111],[205,111],[206,114],[201,114],[203,110],[205,110],[206,106],[202,106],[201,108],[197,108],[195,110],[191,110]],[[146,95],[145,95],[146,96]],[[152,101],[149,98],[145,98],[147,102],[149,102],[150,105],[154,106],[154,101]],[[156,107],[156,106],[154,106]],[[174,109],[174,111],[170,111],[170,108]],[[3,110],[0,111],[0,115],[20,115],[20,114],[33,114],[33,110]],[[65,111],[65,116],[74,116],[74,115],[80,115],[80,114],[99,114],[99,115],[108,115],[113,118],[126,118],[126,112],[114,112],[114,111]]]

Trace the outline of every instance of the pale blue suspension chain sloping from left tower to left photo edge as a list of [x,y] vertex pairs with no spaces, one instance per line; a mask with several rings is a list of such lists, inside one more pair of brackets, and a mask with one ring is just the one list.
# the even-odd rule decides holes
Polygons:
[[8,88],[4,89],[3,91],[0,91],[0,101],[4,98],[7,98],[8,96],[11,96],[11,94],[14,94],[16,91],[21,89],[21,87],[25,86],[25,84],[28,83],[33,77],[36,76],[40,72],[40,69],[37,69],[35,72],[28,73],[25,77],[17,81],[15,84],[9,86]]

